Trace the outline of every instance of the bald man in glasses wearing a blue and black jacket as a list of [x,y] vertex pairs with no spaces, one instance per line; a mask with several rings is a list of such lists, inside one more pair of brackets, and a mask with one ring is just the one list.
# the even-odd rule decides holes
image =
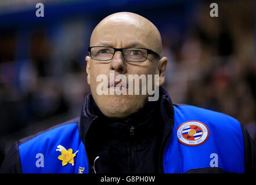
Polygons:
[[[90,45],[85,60],[91,94],[81,116],[18,140],[1,172],[256,172],[255,143],[238,121],[172,104],[161,86],[167,66],[161,36],[149,20],[128,12],[111,14],[95,27]],[[157,80],[143,81],[143,75]],[[129,82],[138,77],[136,94],[138,84]],[[149,88],[142,93],[145,83],[154,94]]]

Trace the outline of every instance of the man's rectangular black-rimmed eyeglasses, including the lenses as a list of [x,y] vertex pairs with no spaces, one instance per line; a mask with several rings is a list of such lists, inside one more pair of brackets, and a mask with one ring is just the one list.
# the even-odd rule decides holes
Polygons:
[[90,57],[94,60],[108,61],[112,60],[116,51],[121,51],[122,57],[129,62],[143,62],[147,60],[147,55],[152,54],[154,57],[161,59],[160,56],[150,50],[140,47],[114,48],[104,46],[92,46],[88,48]]

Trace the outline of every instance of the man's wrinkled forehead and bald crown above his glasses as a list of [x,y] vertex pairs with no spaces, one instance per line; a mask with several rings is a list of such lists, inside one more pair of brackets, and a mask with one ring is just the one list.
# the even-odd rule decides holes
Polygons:
[[90,45],[146,47],[160,52],[161,37],[146,18],[124,14],[103,19],[93,30]]

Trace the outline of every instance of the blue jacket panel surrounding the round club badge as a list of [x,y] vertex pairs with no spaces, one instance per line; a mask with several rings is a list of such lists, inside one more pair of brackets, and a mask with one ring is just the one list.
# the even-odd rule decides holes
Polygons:
[[[165,173],[185,173],[190,169],[208,167],[244,173],[243,133],[236,119],[189,105],[174,107],[174,111],[174,127],[164,153]],[[208,127],[208,138],[200,145],[179,142],[177,129],[188,121],[200,121]],[[182,133],[186,134],[185,131]]]

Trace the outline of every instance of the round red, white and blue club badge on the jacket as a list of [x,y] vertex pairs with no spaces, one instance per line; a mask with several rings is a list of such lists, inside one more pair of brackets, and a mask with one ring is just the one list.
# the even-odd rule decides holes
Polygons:
[[209,129],[200,121],[188,121],[177,128],[179,142],[187,146],[203,144],[209,136]]

